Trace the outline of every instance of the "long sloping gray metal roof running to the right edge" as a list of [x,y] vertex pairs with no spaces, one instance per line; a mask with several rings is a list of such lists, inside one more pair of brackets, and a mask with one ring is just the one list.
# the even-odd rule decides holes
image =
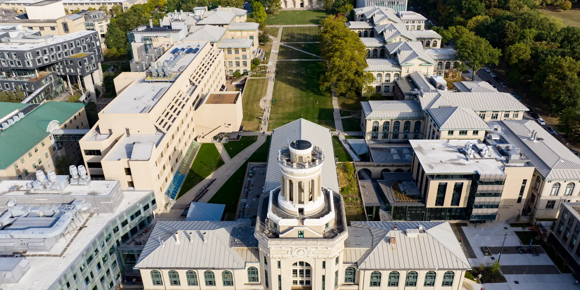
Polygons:
[[[492,124],[501,126],[501,132],[523,151],[544,179],[580,180],[580,158],[534,120],[504,120]],[[530,140],[534,130],[538,132],[536,137],[543,140]]]

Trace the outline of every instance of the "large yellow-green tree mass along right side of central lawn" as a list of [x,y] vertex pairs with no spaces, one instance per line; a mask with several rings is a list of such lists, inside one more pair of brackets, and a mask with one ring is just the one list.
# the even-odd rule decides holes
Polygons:
[[321,90],[334,85],[337,94],[351,96],[372,82],[372,74],[365,71],[366,46],[345,23],[345,16],[331,15],[320,21],[318,41],[325,74],[320,76],[319,84]]

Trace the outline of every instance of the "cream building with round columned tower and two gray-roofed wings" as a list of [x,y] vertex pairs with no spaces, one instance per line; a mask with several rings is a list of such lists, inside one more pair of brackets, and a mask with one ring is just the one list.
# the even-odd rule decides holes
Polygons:
[[333,155],[323,126],[274,129],[256,226],[157,222],[144,289],[461,289],[471,266],[448,222],[347,224]]

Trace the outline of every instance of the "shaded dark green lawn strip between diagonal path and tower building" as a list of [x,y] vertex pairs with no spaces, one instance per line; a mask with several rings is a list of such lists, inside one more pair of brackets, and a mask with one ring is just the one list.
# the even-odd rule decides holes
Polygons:
[[235,220],[235,213],[238,210],[238,201],[244,186],[248,162],[266,162],[268,159],[268,148],[270,148],[270,136],[266,136],[266,142],[262,144],[233,175],[227,179],[226,183],[208,201],[210,204],[226,204],[222,220]]

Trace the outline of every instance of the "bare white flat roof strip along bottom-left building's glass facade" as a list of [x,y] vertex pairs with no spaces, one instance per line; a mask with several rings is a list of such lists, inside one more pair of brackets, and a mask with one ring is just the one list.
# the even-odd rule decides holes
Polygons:
[[92,216],[84,215],[83,218],[86,218],[86,222],[81,230],[75,231],[76,237],[67,235],[67,238],[60,238],[50,251],[25,254],[26,260],[30,263],[30,269],[19,282],[2,284],[2,289],[49,289],[71,267],[71,264],[85,251],[85,248],[92,247],[93,239],[105,229],[108,222],[150,193],[151,191],[123,191],[122,201],[119,200],[119,206],[115,212],[99,213]]

